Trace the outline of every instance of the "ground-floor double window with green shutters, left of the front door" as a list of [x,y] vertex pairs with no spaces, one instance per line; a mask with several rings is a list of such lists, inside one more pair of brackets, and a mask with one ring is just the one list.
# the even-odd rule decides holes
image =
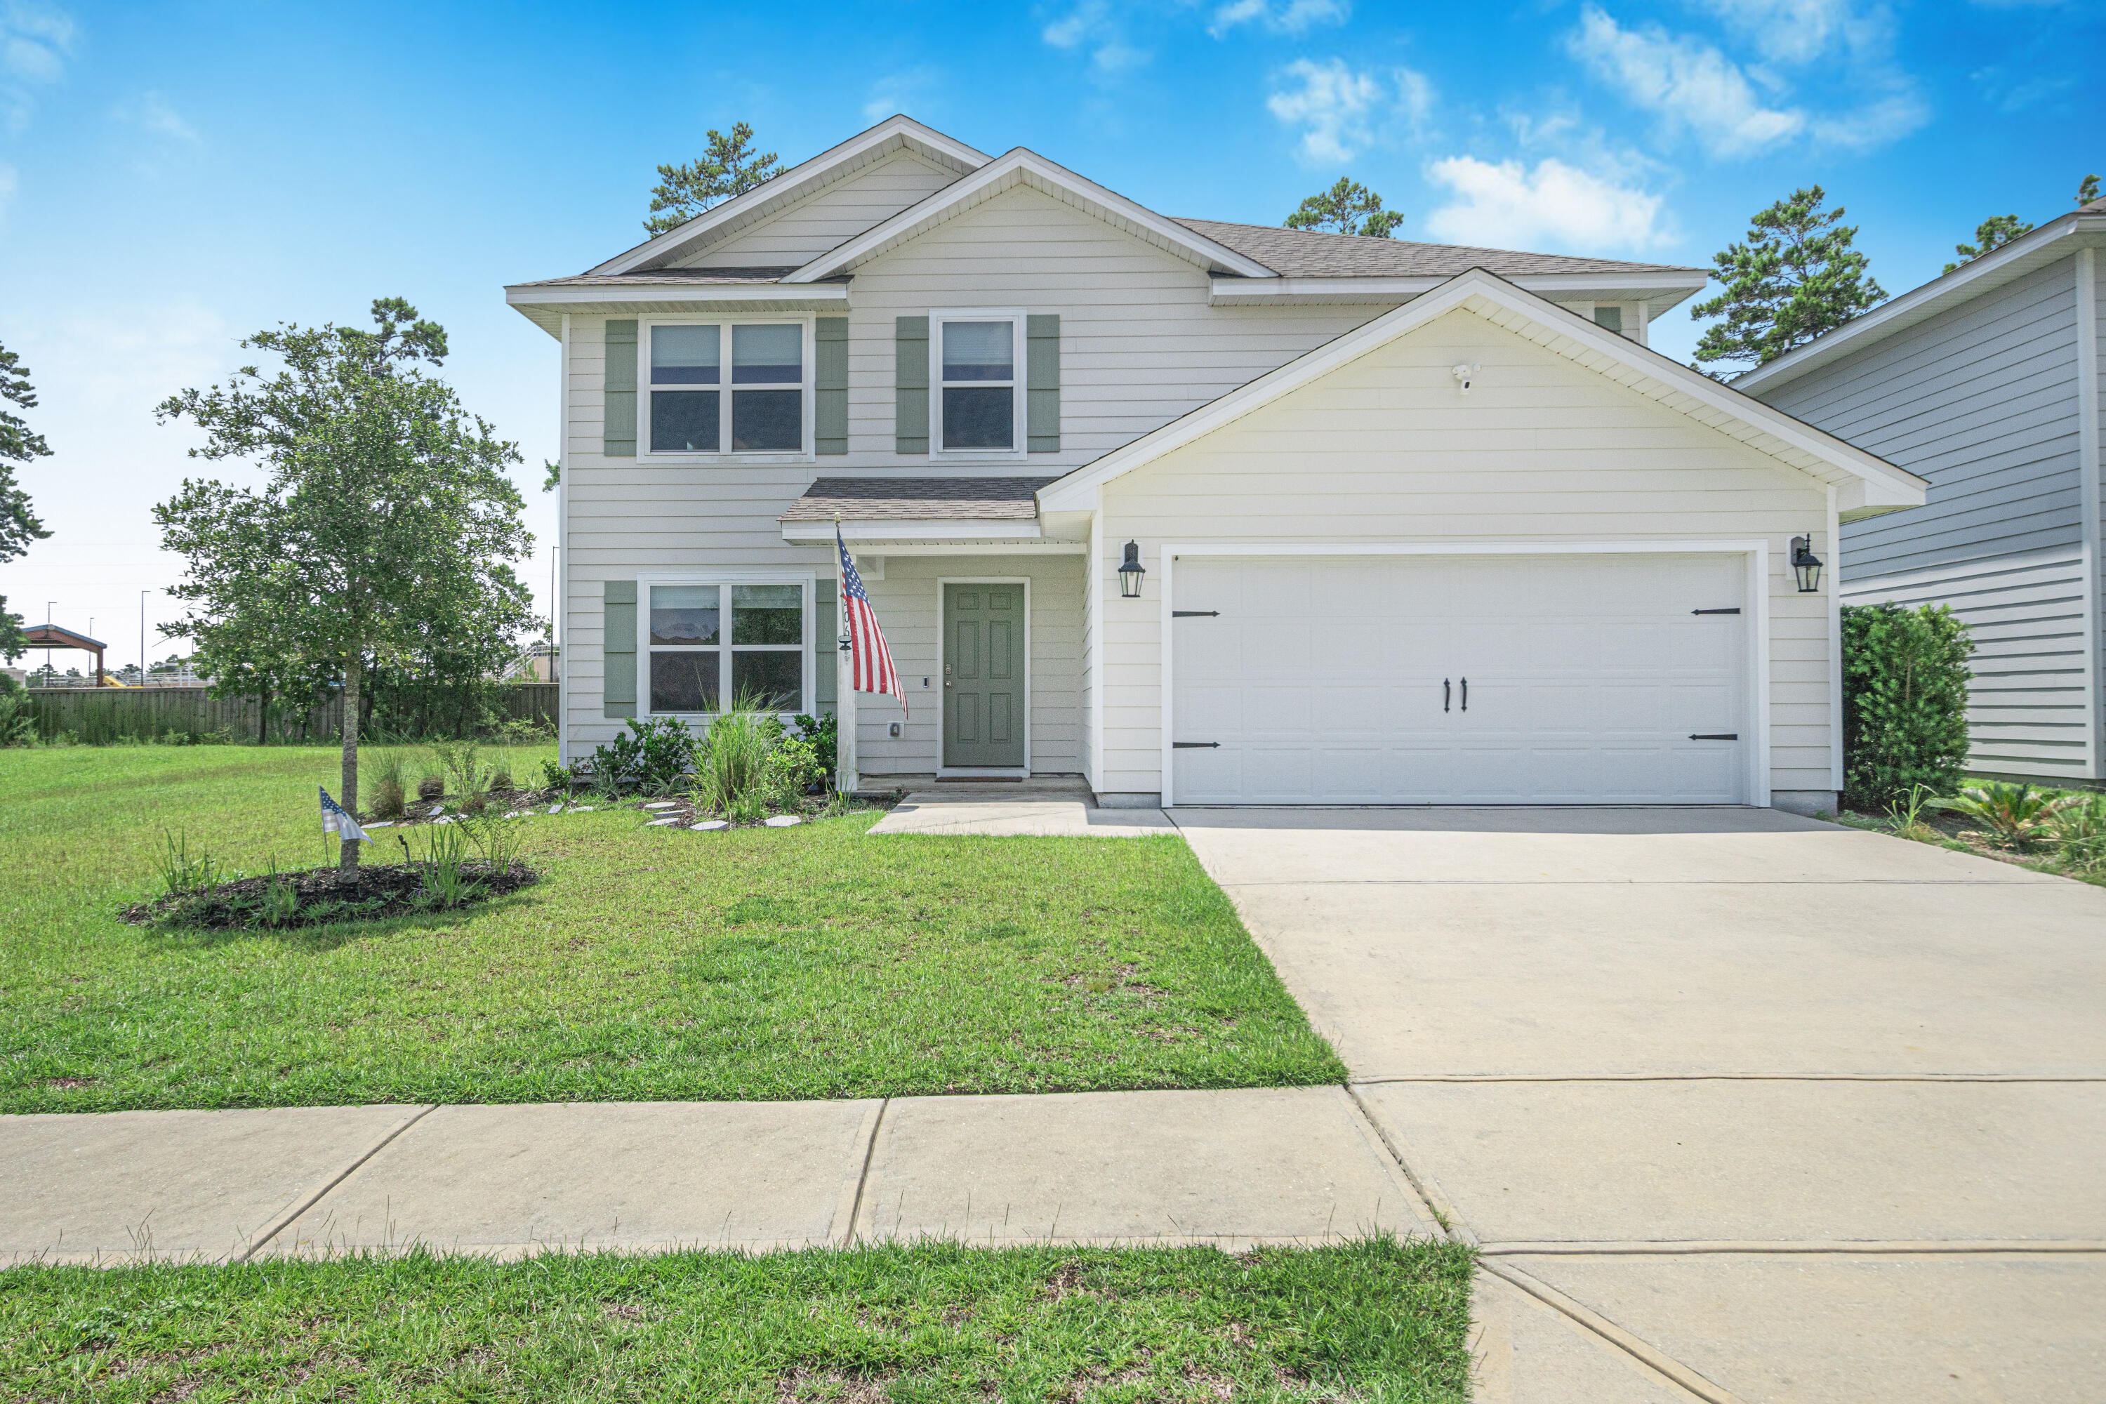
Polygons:
[[653,585],[651,711],[804,707],[802,585]]

